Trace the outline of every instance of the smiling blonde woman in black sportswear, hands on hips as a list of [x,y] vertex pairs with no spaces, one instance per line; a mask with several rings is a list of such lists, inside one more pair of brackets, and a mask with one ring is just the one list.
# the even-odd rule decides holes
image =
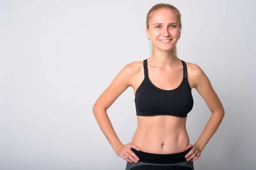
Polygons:
[[[193,170],[193,161],[218,129],[224,109],[201,68],[177,58],[178,9],[156,4],[148,12],[146,25],[152,56],[121,70],[94,104],[94,116],[117,155],[127,161],[126,170]],[[122,144],[106,110],[128,87],[135,94],[138,127],[132,142]],[[186,116],[193,107],[192,88],[212,113],[195,144],[189,143],[186,131]]]

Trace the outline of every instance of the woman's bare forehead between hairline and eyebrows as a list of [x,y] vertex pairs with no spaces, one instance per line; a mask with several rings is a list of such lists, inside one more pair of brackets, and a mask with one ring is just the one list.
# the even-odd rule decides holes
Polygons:
[[[158,9],[153,11],[149,23],[178,23],[177,15],[171,9]],[[150,25],[151,25],[150,24]]]

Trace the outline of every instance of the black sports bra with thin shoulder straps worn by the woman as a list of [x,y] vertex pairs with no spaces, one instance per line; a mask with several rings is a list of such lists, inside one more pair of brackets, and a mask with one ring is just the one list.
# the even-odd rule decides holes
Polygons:
[[171,115],[186,117],[193,107],[193,97],[183,65],[182,83],[173,90],[159,89],[148,78],[148,62],[144,60],[144,80],[135,93],[137,116]]

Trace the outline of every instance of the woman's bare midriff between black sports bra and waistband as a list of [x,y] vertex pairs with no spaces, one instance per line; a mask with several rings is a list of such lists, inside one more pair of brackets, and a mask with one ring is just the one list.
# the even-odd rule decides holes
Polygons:
[[185,151],[189,144],[186,117],[168,115],[137,116],[138,128],[132,144],[141,151],[155,154],[172,154]]

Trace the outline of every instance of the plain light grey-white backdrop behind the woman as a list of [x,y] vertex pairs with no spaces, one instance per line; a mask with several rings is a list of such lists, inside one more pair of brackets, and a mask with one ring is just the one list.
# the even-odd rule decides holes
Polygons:
[[[255,169],[255,0],[0,0],[1,170],[125,169],[92,106],[125,65],[150,57],[146,15],[162,2],[182,14],[178,57],[204,70],[226,111],[195,169]],[[193,144],[211,113],[192,93]],[[130,142],[131,88],[108,115]]]

